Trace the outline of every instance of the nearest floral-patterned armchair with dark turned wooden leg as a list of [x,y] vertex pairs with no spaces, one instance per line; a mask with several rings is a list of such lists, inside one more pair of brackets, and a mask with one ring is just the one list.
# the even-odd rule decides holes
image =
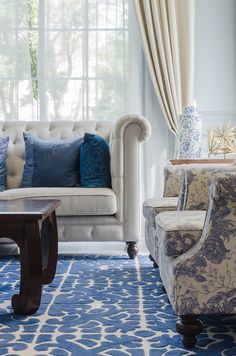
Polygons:
[[160,276],[183,344],[193,347],[199,314],[236,312],[236,167],[184,174],[185,210],[158,214],[156,227]]

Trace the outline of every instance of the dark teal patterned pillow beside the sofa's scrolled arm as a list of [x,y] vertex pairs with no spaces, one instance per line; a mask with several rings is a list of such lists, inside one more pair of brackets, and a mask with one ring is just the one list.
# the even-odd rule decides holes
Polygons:
[[109,145],[101,136],[84,135],[80,147],[80,186],[111,187]]

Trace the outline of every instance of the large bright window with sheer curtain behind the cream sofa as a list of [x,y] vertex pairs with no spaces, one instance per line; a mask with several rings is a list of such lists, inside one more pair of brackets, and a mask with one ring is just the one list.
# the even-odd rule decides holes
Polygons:
[[128,15],[128,0],[1,0],[1,119],[30,119],[32,103],[41,120],[124,114]]

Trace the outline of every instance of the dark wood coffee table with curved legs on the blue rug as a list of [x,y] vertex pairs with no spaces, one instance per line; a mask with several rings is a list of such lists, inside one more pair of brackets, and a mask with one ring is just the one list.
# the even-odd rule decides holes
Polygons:
[[12,297],[17,314],[35,313],[42,285],[55,276],[59,205],[60,200],[0,200],[0,238],[12,239],[20,249],[20,293]]

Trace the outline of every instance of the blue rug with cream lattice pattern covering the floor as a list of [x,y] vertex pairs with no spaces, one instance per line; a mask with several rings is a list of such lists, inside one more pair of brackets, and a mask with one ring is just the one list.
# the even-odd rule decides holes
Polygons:
[[0,355],[236,355],[236,317],[202,319],[198,346],[185,350],[176,318],[147,256],[64,256],[35,315],[12,314],[17,258],[0,260]]

